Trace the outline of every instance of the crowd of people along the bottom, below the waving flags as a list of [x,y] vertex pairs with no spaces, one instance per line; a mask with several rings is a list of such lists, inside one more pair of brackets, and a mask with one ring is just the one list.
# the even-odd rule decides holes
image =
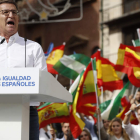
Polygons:
[[[129,97],[131,107],[126,113],[124,120],[114,118],[112,120],[102,120],[100,109],[97,108],[96,114],[99,115],[95,123],[91,116],[78,114],[85,122],[85,128],[77,139],[79,140],[140,140],[140,90],[134,97]],[[138,125],[130,123],[132,112],[135,112]],[[99,132],[100,129],[100,132]],[[100,134],[100,137],[99,137]],[[40,140],[74,140],[69,123],[55,123],[40,129]]]

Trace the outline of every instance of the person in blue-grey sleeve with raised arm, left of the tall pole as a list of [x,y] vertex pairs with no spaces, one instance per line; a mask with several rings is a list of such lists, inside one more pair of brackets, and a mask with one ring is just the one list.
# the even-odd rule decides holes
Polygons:
[[79,113],[81,119],[85,123],[85,128],[87,128],[90,131],[92,140],[98,140],[97,133],[95,132],[95,122],[94,120],[89,120],[88,117],[86,117],[84,114]]

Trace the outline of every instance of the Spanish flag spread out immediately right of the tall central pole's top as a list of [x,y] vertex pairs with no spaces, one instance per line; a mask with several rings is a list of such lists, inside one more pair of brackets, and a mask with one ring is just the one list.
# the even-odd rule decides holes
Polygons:
[[114,69],[115,65],[108,59],[100,56],[100,51],[92,55],[92,58],[96,57],[97,66],[97,80],[98,86],[103,87],[103,90],[117,90],[123,88],[123,81],[117,76]]

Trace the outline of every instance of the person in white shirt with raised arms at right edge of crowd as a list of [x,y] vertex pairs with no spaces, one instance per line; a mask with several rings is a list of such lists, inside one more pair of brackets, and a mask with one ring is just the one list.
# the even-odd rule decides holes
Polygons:
[[[137,106],[135,103],[132,103],[130,110],[131,112],[125,115],[125,118],[123,120],[123,127],[126,130],[127,134],[130,136],[130,138],[134,140],[140,140],[140,106]],[[138,125],[130,124],[130,118],[131,118],[132,112],[135,112],[136,114],[136,117],[139,122]]]

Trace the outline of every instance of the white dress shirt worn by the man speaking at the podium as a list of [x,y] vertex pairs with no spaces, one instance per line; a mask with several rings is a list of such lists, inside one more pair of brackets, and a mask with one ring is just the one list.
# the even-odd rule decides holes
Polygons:
[[[3,37],[0,36],[0,42]],[[25,67],[25,41],[18,33],[0,44],[0,68],[21,68]],[[47,65],[42,47],[31,40],[26,43],[26,67],[36,67],[47,71]],[[39,103],[30,103],[38,106]]]

